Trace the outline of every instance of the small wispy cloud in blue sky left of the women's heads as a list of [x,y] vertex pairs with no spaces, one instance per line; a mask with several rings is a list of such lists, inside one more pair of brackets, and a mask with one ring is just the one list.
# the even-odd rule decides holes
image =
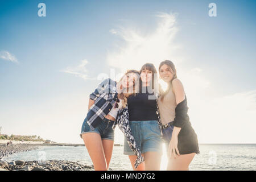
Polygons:
[[61,70],[61,72],[64,73],[71,73],[72,75],[75,75],[77,77],[81,77],[84,80],[90,80],[90,79],[94,79],[94,78],[90,78],[87,75],[87,69],[85,67],[86,64],[88,64],[87,60],[81,60],[81,63],[79,65],[77,65],[76,67],[68,67],[66,69]]

